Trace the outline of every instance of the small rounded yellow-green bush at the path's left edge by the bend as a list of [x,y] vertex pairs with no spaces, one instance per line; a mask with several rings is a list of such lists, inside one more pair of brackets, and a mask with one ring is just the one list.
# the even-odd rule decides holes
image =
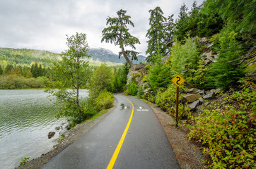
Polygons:
[[95,101],[100,107],[100,109],[111,108],[113,106],[112,103],[114,101],[114,96],[110,92],[103,91],[98,95]]

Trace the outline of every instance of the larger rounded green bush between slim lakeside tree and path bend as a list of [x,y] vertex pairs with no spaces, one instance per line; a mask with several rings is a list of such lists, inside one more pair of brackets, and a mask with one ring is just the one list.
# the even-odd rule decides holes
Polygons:
[[89,82],[90,97],[96,98],[103,90],[112,92],[113,79],[113,71],[110,70],[106,64],[102,64],[100,67],[96,68]]

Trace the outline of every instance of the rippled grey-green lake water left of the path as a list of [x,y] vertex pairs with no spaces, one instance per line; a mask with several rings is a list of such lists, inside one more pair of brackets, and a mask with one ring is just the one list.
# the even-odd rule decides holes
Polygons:
[[[86,89],[79,90],[86,97]],[[30,160],[45,154],[57,144],[64,118],[54,118],[54,108],[44,89],[0,89],[0,168],[18,167],[24,157]],[[49,132],[56,132],[48,139]],[[55,140],[55,141],[54,141]]]

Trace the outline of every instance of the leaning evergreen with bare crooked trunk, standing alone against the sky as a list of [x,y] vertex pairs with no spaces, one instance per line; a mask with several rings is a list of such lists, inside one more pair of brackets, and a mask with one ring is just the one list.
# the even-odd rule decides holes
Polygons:
[[105,41],[107,43],[110,42],[119,45],[122,50],[119,53],[119,57],[123,55],[127,63],[132,66],[132,61],[129,57],[131,57],[132,60],[137,60],[137,55],[139,53],[133,50],[125,50],[124,47],[130,46],[132,49],[136,49],[134,45],[140,44],[140,42],[138,38],[129,33],[127,25],[132,25],[132,27],[134,27],[134,23],[130,20],[131,16],[126,15],[126,12],[127,11],[120,9],[120,11],[117,11],[117,18],[107,18],[106,25],[109,25],[109,27],[103,29],[103,38],[101,39],[101,42]]

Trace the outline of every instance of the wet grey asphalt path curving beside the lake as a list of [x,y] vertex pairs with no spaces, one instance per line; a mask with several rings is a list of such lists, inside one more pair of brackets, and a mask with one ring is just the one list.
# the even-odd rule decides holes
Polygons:
[[[42,168],[107,168],[110,163],[113,168],[180,168],[151,107],[122,94],[115,94],[115,99],[117,106],[106,118]],[[120,151],[115,153],[131,116]]]

